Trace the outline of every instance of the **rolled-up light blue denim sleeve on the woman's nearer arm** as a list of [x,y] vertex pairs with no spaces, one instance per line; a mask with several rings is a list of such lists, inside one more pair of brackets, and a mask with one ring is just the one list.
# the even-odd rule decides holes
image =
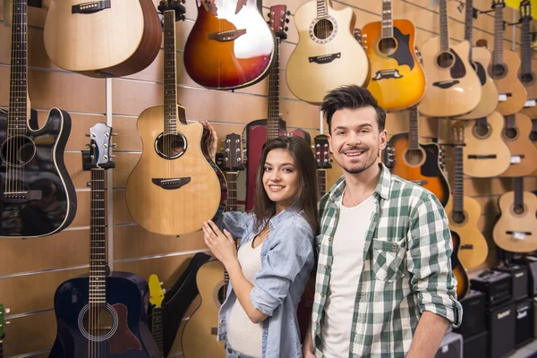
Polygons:
[[251,289],[253,307],[267,316],[272,316],[273,311],[283,303],[289,286],[304,266],[307,265],[310,271],[313,268],[311,228],[293,221],[290,225],[277,227]]

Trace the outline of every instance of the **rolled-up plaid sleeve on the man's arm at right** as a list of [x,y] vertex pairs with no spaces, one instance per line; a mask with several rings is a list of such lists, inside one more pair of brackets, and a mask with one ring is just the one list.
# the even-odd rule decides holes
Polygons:
[[456,300],[456,277],[451,268],[451,232],[439,200],[427,194],[414,208],[409,229],[407,268],[418,294],[420,311],[430,311],[458,327],[463,309]]

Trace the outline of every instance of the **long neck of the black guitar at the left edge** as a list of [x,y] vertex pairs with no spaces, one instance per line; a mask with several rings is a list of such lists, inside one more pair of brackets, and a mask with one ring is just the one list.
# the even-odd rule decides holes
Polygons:
[[27,68],[27,4],[26,0],[13,0],[12,58],[9,93],[9,136],[27,132],[28,68]]

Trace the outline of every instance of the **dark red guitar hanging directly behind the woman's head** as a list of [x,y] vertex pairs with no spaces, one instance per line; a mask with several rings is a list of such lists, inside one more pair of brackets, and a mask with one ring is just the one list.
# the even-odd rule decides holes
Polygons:
[[311,143],[310,133],[302,129],[287,132],[286,122],[281,118],[279,110],[279,52],[282,39],[287,38],[286,16],[289,14],[286,5],[270,7],[268,26],[276,37],[274,64],[268,75],[268,116],[267,119],[253,121],[246,125],[243,138],[246,138],[246,210],[253,209],[255,197],[255,181],[260,163],[261,152],[266,142],[282,135],[299,136]]

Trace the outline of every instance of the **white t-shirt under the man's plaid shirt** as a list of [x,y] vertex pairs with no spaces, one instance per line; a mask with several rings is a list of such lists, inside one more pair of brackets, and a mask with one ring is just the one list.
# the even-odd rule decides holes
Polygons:
[[362,275],[363,245],[376,205],[373,197],[354,208],[338,202],[340,212],[332,244],[328,297],[322,323],[321,351],[327,358],[347,358],[358,281]]

